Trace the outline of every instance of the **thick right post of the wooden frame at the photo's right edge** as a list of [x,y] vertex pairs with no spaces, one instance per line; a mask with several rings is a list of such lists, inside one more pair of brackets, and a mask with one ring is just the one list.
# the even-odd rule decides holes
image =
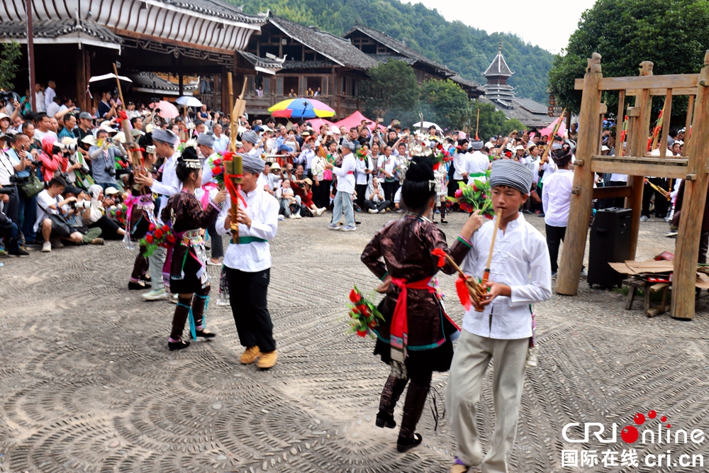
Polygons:
[[694,317],[694,282],[699,256],[699,227],[704,214],[709,182],[706,172],[706,157],[709,155],[709,50],[704,55],[704,67],[699,74],[699,84],[694,103],[692,138],[688,150],[688,174],[684,183],[679,235],[674,252],[671,313],[674,318],[683,319]]

